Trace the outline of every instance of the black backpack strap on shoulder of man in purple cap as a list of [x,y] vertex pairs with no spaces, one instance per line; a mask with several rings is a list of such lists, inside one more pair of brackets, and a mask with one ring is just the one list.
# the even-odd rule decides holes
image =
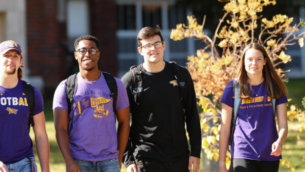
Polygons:
[[29,116],[28,116],[28,132],[29,129],[35,126],[34,124],[34,104],[35,104],[35,95],[34,95],[34,87],[23,80],[23,90],[26,97],[26,102],[28,105]]

